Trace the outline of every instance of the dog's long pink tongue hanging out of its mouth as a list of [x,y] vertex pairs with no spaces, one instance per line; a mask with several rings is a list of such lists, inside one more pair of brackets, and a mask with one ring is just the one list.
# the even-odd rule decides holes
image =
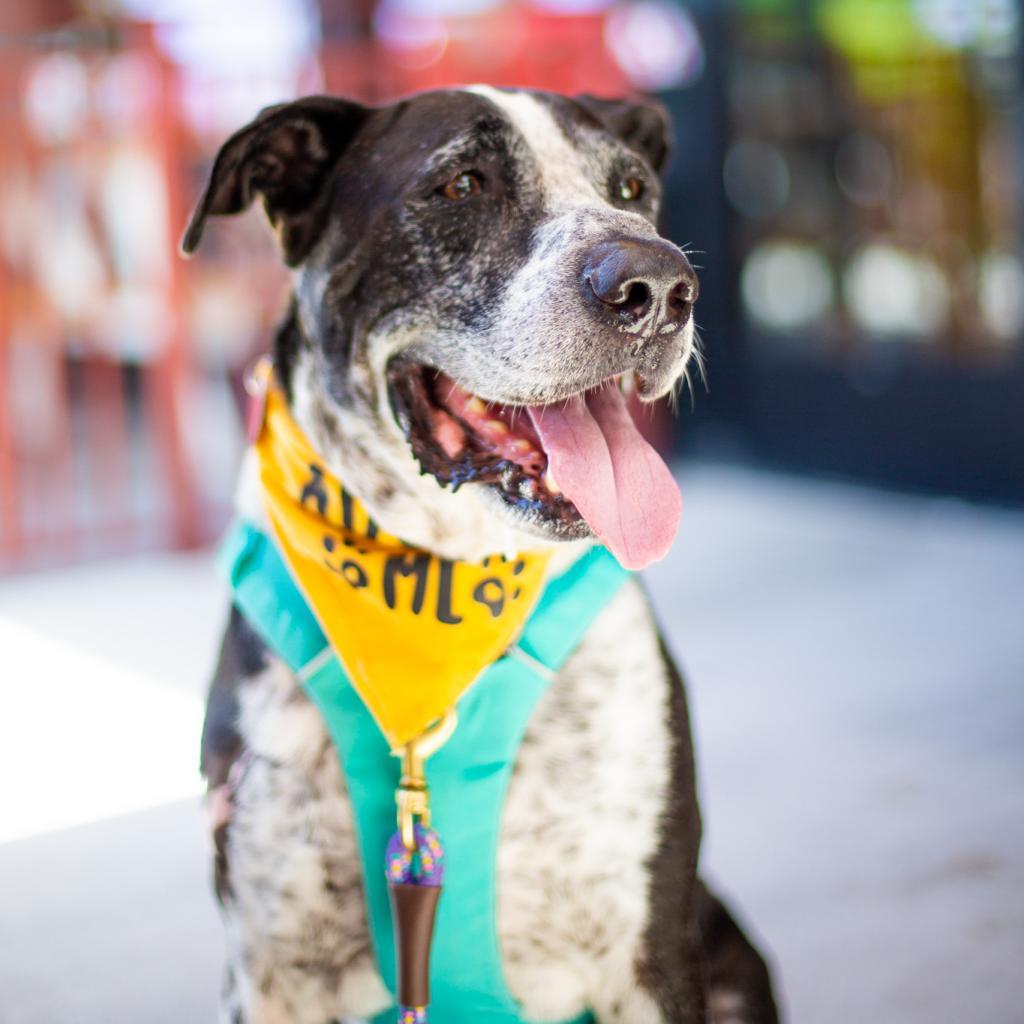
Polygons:
[[628,569],[664,558],[682,511],[679,487],[614,386],[529,410],[555,482]]

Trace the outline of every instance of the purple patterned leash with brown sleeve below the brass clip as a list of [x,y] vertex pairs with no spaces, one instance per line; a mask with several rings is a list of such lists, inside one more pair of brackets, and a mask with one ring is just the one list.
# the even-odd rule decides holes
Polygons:
[[408,935],[403,932],[412,931],[409,925],[410,914],[419,916],[423,911],[417,904],[426,902],[429,904],[427,913],[429,914],[431,928],[433,915],[437,906],[437,898],[440,894],[441,883],[444,881],[444,847],[432,828],[417,823],[413,827],[412,850],[406,847],[401,838],[401,830],[396,831],[388,841],[387,852],[384,854],[384,872],[391,890],[391,912],[395,926],[395,951],[398,959],[398,1024],[428,1024],[427,1000],[418,999],[420,1006],[409,1006],[409,992],[403,991],[407,987],[407,978],[415,975],[414,990],[422,992],[424,996],[427,990],[427,977],[429,972],[429,942],[425,949],[420,948],[416,955],[423,957],[427,963],[414,965],[403,964],[406,956],[411,956],[411,947],[407,946]]

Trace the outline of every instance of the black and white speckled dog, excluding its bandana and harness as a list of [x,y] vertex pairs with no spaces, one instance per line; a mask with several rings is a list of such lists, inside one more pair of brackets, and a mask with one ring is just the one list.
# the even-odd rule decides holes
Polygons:
[[[452,559],[554,545],[556,568],[596,534],[642,562],[662,543],[648,532],[663,496],[647,496],[644,520],[615,493],[632,422],[615,436],[598,424],[603,455],[566,463],[571,487],[508,444],[522,439],[522,407],[585,411],[609,380],[650,401],[685,375],[696,279],[654,227],[666,155],[665,115],[645,102],[487,87],[379,109],[310,97],[225,143],[183,247],[208,217],[262,201],[294,284],[276,373],[384,529]],[[239,500],[262,518],[252,465]],[[338,761],[237,609],[203,770],[231,794],[215,833],[222,1020],[382,1010]],[[685,695],[634,582],[543,698],[508,794],[499,931],[528,1019],[587,1007],[602,1024],[777,1019],[764,963],[697,879],[699,841]]]

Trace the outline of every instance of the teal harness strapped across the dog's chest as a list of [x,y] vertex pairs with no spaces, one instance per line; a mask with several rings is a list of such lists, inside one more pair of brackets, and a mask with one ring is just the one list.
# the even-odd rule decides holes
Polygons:
[[[341,760],[362,859],[377,964],[395,991],[394,933],[382,862],[394,833],[398,763],[352,687],[276,545],[248,523],[221,554],[234,602],[295,672],[319,709]],[[444,1024],[524,1024],[502,969],[496,861],[516,752],[538,700],[629,577],[593,548],[546,587],[518,643],[459,702],[459,727],[430,761],[433,820],[444,838],[444,893],[431,955],[433,1019]],[[375,869],[376,868],[376,869]],[[375,1024],[394,1020],[394,1010]],[[591,1022],[587,1013],[572,1024]]]

